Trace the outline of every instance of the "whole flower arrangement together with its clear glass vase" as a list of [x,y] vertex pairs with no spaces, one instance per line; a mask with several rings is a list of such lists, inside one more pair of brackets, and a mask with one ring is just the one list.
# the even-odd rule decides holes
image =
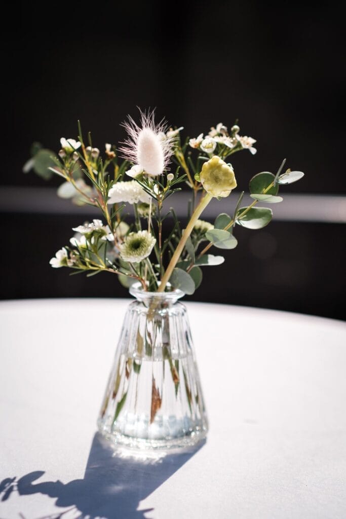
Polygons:
[[[256,141],[240,135],[238,125],[228,131],[221,123],[205,136],[182,141],[183,128],[156,124],[154,112],[141,112],[140,124],[129,117],[123,127],[127,139],[119,149],[106,144],[103,156],[90,134],[85,143],[80,125],[78,140],[62,138],[58,155],[36,144],[24,171],[59,175],[64,181],[59,196],[101,214],[73,228],[51,266],[87,276],[110,272],[135,297],[101,406],[101,433],[130,447],[194,444],[204,438],[207,418],[186,308],[178,299],[199,287],[202,268],[224,262],[210,249],[237,247],[237,225],[267,225],[272,211],[257,205],[281,202],[279,187],[303,173],[283,171],[283,161],[275,174],[256,174],[250,205],[242,206],[242,192],[231,214],[206,222],[200,217],[210,201],[229,197],[237,187],[228,158],[243,149],[255,154]],[[191,194],[185,228],[166,202],[183,186]],[[169,232],[163,232],[163,222],[171,224]]]

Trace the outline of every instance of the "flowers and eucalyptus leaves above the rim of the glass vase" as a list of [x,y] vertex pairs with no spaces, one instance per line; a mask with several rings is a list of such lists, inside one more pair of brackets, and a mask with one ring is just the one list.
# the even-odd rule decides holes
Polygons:
[[[202,281],[201,267],[224,262],[223,256],[209,250],[237,247],[236,225],[266,226],[272,211],[257,204],[281,202],[279,186],[303,176],[290,169],[282,172],[284,160],[276,174],[266,171],[252,177],[250,205],[242,206],[242,192],[232,214],[222,213],[214,223],[206,222],[200,217],[207,204],[230,196],[237,187],[228,158],[243,149],[255,154],[256,141],[241,136],[238,125],[229,131],[219,123],[207,135],[183,142],[183,128],[168,128],[164,121],[156,124],[154,112],[141,112],[139,125],[129,117],[123,127],[127,139],[119,148],[106,144],[103,157],[90,134],[86,145],[80,125],[78,140],[62,138],[58,155],[33,145],[33,157],[24,171],[33,168],[44,178],[60,176],[64,182],[59,196],[94,206],[102,217],[74,227],[70,244],[50,260],[52,267],[69,267],[76,270],[73,274],[86,271],[88,276],[107,271],[127,287],[140,282],[145,291],[181,289],[192,294]],[[183,184],[191,192],[186,228],[164,203]],[[133,218],[126,221],[129,204],[134,223]],[[162,224],[168,217],[172,226],[164,236]]]

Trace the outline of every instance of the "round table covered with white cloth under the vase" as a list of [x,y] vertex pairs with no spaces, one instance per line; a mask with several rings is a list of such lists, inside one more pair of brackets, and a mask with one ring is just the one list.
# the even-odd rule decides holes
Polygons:
[[189,303],[210,432],[143,461],[95,434],[128,303],[0,303],[1,519],[345,519],[342,322]]

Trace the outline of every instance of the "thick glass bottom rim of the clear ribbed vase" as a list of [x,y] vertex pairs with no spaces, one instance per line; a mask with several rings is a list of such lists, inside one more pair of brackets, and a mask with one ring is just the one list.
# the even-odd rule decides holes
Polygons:
[[184,447],[192,447],[205,440],[207,430],[200,429],[192,431],[188,435],[179,438],[169,439],[149,439],[149,438],[135,438],[134,436],[127,436],[118,432],[108,432],[100,427],[99,431],[104,438],[114,444],[115,446],[123,446],[135,450],[171,450]]

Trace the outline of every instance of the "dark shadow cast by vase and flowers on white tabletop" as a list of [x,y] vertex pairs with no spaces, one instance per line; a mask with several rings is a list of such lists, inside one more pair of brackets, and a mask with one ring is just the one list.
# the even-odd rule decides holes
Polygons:
[[[56,506],[72,507],[69,510],[76,510],[78,519],[143,519],[144,514],[153,509],[136,510],[139,502],[182,467],[202,445],[203,442],[193,449],[177,454],[136,459],[124,451],[115,452],[96,433],[84,479],[66,484],[59,480],[34,484],[45,472],[30,472],[20,479],[8,477],[3,480],[0,483],[0,498],[1,501],[6,501],[17,490],[20,496],[44,494],[57,498]],[[45,519],[61,517],[63,513],[58,515],[55,512],[51,516],[45,516]]]

